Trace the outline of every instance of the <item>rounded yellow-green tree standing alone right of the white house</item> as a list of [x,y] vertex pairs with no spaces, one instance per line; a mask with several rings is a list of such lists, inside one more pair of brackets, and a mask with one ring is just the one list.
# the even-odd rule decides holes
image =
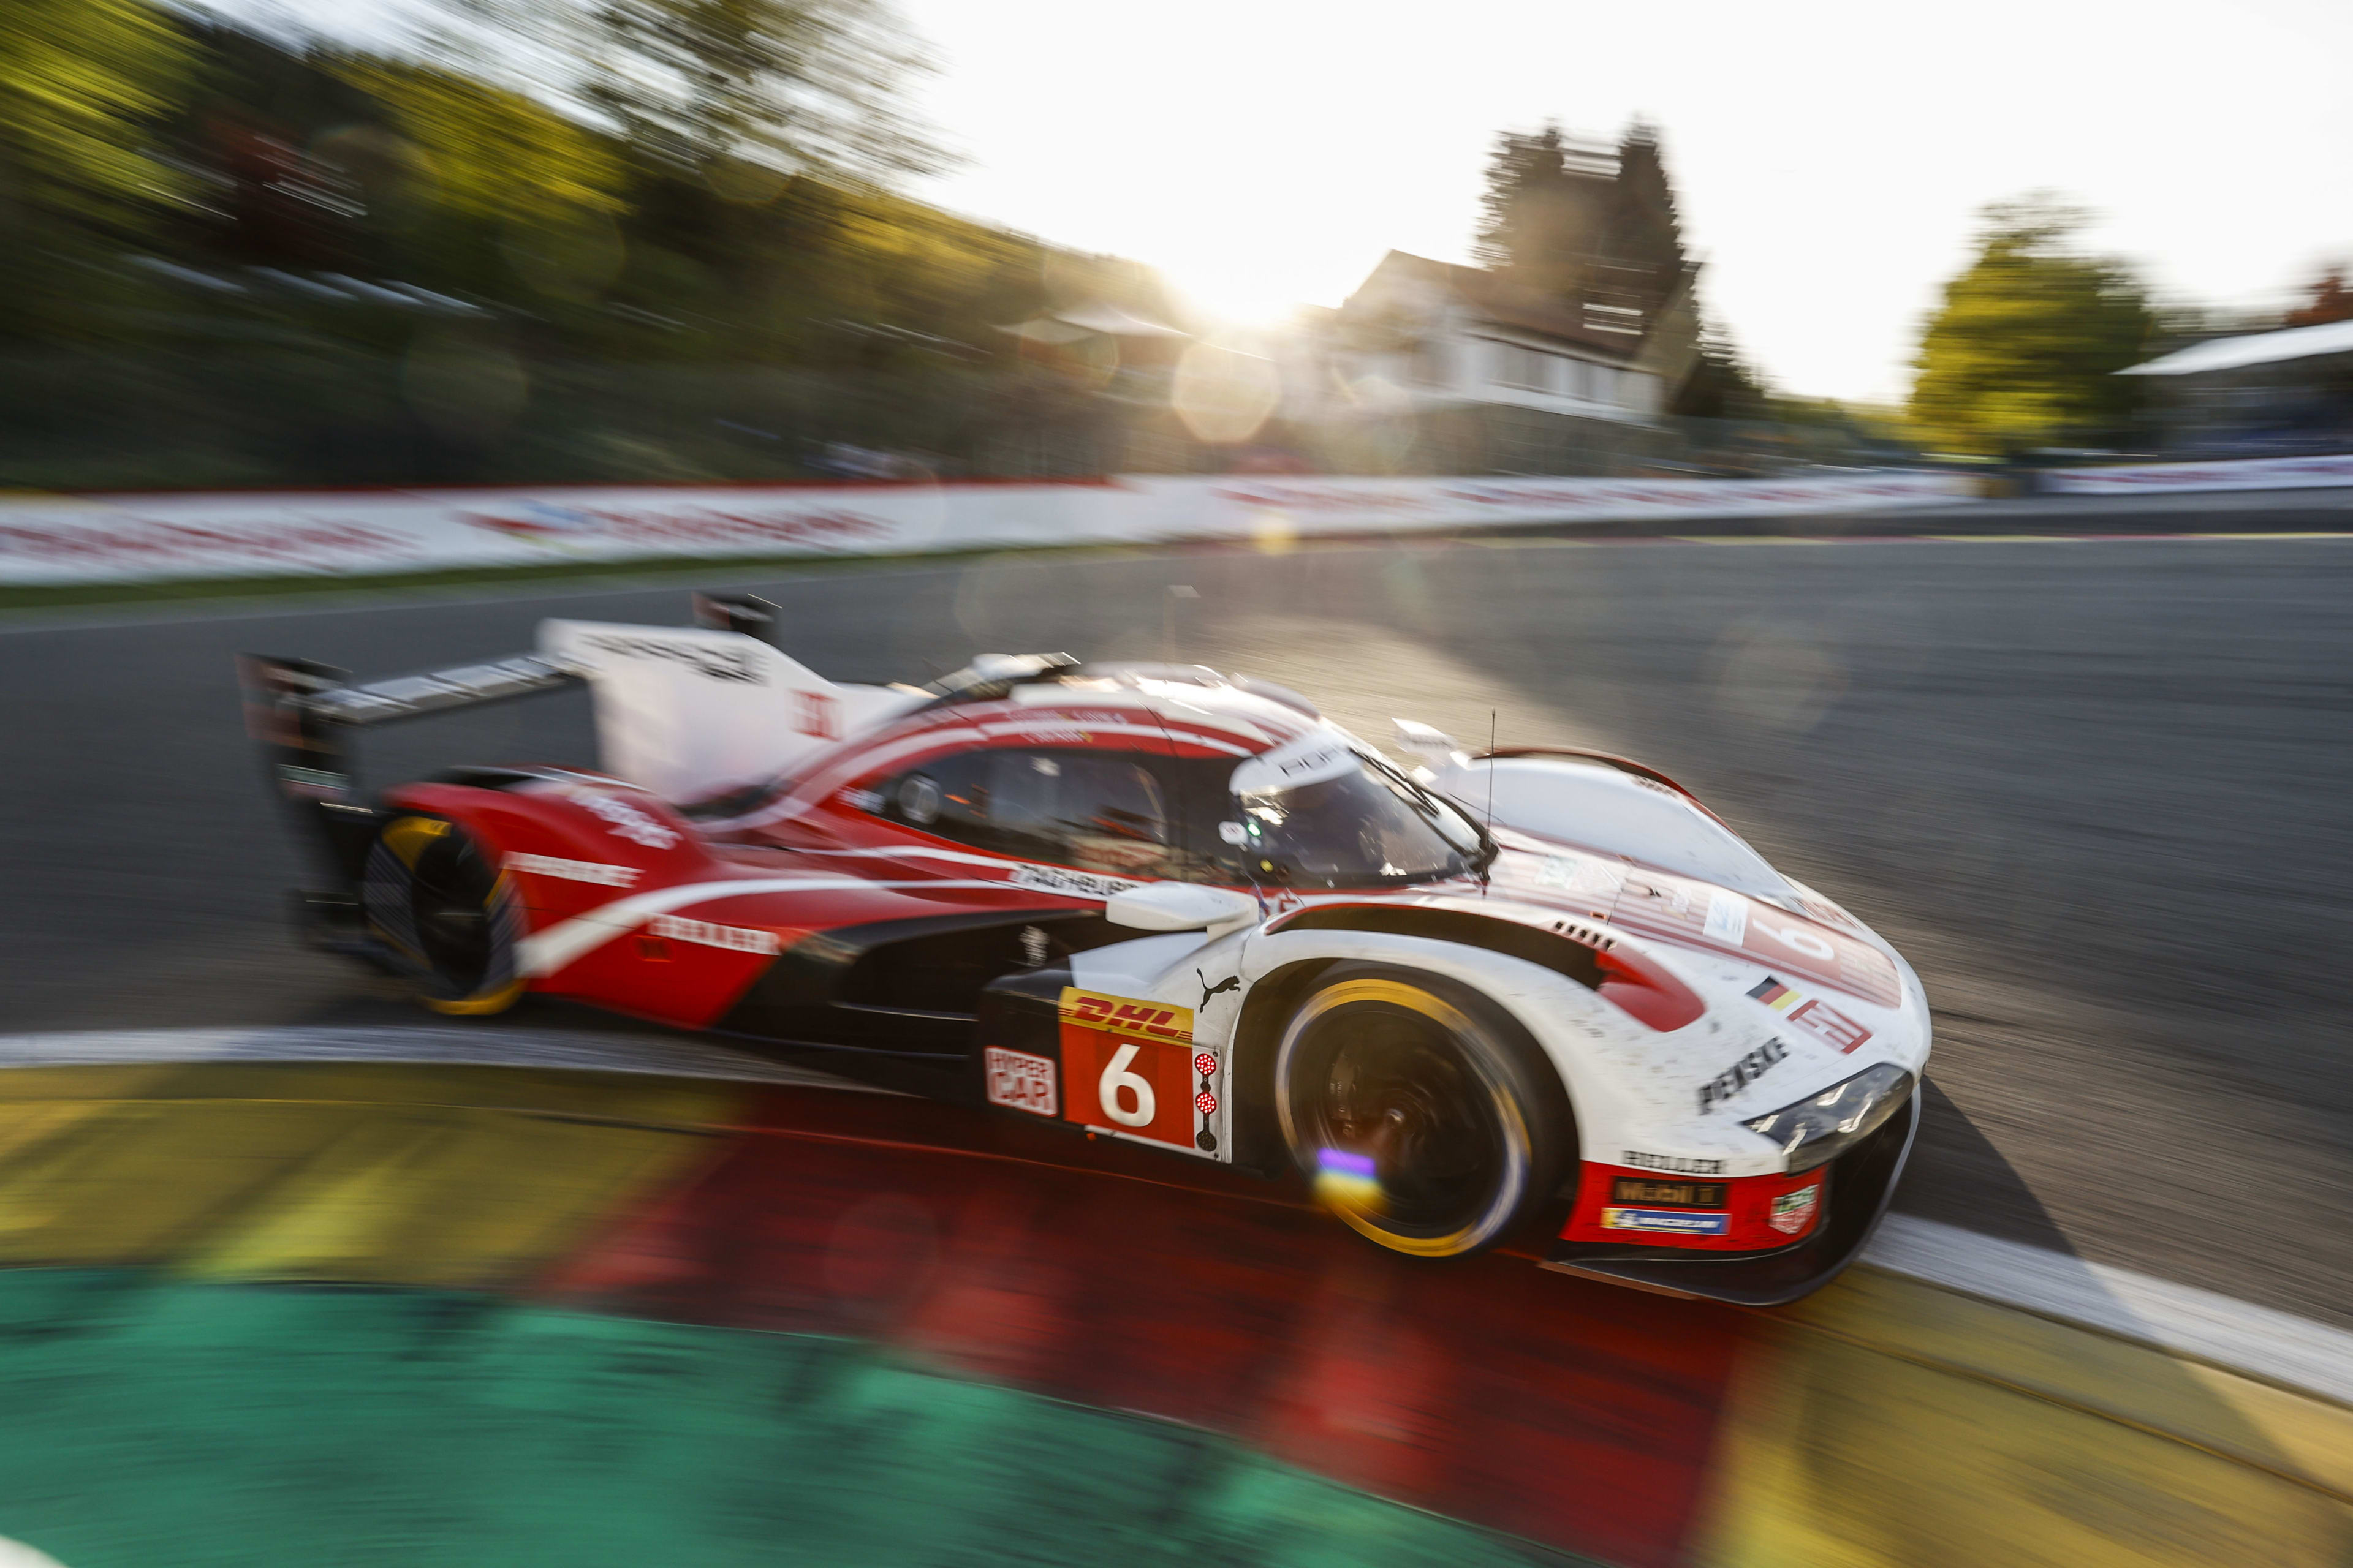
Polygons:
[[2113,440],[2139,397],[2148,292],[2118,261],[2071,249],[2087,214],[2047,197],[1984,212],[1977,259],[1944,289],[1913,360],[1908,418],[1944,451]]

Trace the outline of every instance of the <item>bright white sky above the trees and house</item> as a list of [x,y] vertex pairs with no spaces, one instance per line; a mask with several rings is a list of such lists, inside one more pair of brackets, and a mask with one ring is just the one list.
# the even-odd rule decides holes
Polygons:
[[[400,0],[264,0],[365,31]],[[1497,132],[1664,136],[1701,301],[1788,393],[1901,400],[1974,214],[2054,190],[2167,296],[2353,259],[2348,0],[894,0],[965,162],[915,195],[1266,320],[1466,261]]]

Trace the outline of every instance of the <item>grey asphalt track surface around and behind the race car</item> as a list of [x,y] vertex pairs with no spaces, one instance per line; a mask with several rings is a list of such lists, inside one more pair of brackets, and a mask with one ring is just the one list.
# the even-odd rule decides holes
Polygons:
[[[755,585],[840,679],[1174,651],[1374,741],[1494,715],[1504,743],[1642,757],[1920,969],[1937,1058],[1901,1211],[2353,1326],[2353,538],[1497,538]],[[685,592],[0,630],[0,1027],[414,1020],[289,945],[301,867],[231,654],[388,675],[525,649],[551,614],[675,623]],[[372,736],[367,766],[504,759],[593,762],[586,698]],[[567,1020],[591,1016],[515,1027]]]

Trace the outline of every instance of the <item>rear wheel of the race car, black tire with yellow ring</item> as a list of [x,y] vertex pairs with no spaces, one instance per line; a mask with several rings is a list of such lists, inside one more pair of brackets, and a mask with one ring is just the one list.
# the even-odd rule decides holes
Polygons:
[[504,1013],[522,997],[522,914],[506,872],[456,823],[416,811],[376,830],[360,914],[435,1013]]

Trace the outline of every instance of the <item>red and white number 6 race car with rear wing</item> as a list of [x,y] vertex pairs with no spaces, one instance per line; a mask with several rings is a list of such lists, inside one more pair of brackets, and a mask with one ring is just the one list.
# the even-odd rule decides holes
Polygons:
[[[334,886],[318,940],[445,1013],[527,992],[1005,1117],[1304,1171],[1400,1253],[1748,1305],[1861,1251],[1929,1053],[1911,966],[1671,778],[1595,752],[1407,771],[1202,665],[788,658],[758,599],[548,621],[376,684],[245,665]],[[346,733],[586,682],[602,771],[355,797]]]

